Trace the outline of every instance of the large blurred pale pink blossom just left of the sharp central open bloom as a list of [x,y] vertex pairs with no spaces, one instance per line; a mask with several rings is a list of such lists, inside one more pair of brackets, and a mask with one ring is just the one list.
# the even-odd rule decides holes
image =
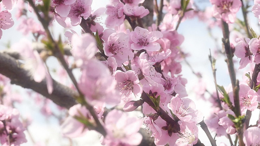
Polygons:
[[115,90],[117,81],[103,63],[89,60],[81,68],[81,73],[79,88],[87,102],[91,105],[106,103],[111,106],[120,103],[119,92]]

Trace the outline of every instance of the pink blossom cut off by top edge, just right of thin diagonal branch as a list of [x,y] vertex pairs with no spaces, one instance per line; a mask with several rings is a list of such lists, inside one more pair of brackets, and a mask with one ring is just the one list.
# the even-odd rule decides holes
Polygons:
[[70,5],[76,0],[52,0],[51,6],[55,8],[55,12],[61,17],[67,17],[70,12]]

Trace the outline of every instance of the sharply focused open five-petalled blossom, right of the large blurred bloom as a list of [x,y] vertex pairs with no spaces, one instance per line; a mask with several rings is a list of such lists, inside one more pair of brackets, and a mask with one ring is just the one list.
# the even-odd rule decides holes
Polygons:
[[118,89],[122,93],[121,99],[128,101],[132,98],[140,98],[142,90],[139,85],[139,79],[134,71],[121,72],[116,71],[115,78],[118,82]]

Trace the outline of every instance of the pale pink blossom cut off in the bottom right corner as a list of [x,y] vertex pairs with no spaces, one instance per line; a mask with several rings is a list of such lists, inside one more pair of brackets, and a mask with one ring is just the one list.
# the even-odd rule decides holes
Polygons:
[[250,127],[243,133],[243,142],[245,146],[259,146],[260,145],[260,128]]

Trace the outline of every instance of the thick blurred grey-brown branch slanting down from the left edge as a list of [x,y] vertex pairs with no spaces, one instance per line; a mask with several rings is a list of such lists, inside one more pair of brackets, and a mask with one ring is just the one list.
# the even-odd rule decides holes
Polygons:
[[35,82],[28,71],[23,69],[21,64],[13,57],[0,53],[0,73],[11,79],[12,84],[19,85],[23,88],[32,89],[46,98],[52,100],[55,104],[69,109],[77,104],[74,97],[79,96],[76,91],[53,81],[53,92],[47,91],[46,81]]

